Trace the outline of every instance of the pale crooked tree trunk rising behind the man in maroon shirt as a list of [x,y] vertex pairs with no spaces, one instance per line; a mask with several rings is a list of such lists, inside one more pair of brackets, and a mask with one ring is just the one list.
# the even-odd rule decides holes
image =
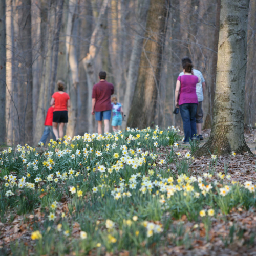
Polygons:
[[[99,11],[99,16],[97,23],[95,25],[95,29],[92,33],[91,41],[90,41],[90,47],[89,52],[86,57],[83,58],[83,67],[86,71],[86,77],[87,77],[87,85],[88,85],[88,112],[91,112],[92,110],[92,91],[93,91],[93,85],[97,81],[97,74],[95,74],[95,67],[94,67],[94,61],[96,56],[99,53],[99,47],[102,45],[103,39],[104,39],[104,30],[106,29],[105,26],[105,14],[106,9],[108,7],[109,0],[103,0],[101,4],[101,8]],[[89,133],[94,132],[94,116],[89,114],[88,117],[88,127],[89,127]]]

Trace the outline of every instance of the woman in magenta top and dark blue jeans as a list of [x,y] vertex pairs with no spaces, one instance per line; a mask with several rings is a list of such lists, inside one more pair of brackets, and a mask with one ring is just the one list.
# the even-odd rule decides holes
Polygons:
[[183,121],[185,139],[183,144],[189,144],[189,139],[197,139],[196,113],[197,113],[197,93],[196,86],[200,78],[192,73],[193,65],[185,63],[183,65],[183,76],[179,76],[175,89],[175,105],[180,109]]

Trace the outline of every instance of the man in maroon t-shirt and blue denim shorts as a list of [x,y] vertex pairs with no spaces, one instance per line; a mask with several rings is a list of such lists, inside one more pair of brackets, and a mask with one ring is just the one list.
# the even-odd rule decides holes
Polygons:
[[102,134],[102,118],[104,120],[104,132],[110,130],[111,95],[114,94],[114,86],[106,81],[106,72],[99,72],[100,81],[93,86],[92,115],[98,121],[98,134]]

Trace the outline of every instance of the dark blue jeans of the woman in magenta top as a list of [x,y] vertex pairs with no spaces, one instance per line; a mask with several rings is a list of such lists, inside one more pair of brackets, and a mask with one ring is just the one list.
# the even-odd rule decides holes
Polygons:
[[184,142],[189,142],[197,135],[197,125],[196,125],[196,114],[197,114],[197,104],[186,103],[180,105],[180,114],[183,121],[183,129],[185,134]]

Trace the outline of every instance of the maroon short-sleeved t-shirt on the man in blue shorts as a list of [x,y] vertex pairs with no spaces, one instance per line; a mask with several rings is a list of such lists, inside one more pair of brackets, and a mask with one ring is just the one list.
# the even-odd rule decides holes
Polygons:
[[106,111],[111,110],[111,95],[114,94],[114,86],[112,83],[104,81],[99,81],[93,86],[92,98],[96,99],[95,111]]

